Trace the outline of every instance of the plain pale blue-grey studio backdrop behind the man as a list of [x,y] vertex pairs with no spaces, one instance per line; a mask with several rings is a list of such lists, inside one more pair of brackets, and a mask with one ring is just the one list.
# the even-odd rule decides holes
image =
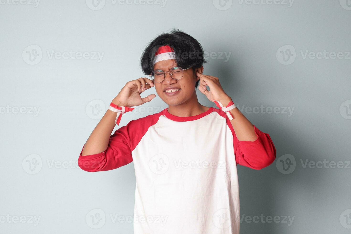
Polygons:
[[[147,42],[172,28],[201,43],[204,74],[277,148],[269,167],[238,166],[241,233],[350,233],[350,0],[0,4],[1,233],[133,233],[133,163],[88,173],[77,160],[145,77]],[[157,96],[113,132],[166,107]]]

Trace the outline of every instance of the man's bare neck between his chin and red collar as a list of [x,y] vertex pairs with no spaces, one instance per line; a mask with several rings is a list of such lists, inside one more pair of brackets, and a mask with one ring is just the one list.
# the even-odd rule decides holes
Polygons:
[[179,117],[189,117],[204,113],[208,109],[210,108],[207,106],[203,106],[199,103],[196,91],[194,91],[191,98],[186,100],[185,102],[177,106],[168,106],[168,113]]

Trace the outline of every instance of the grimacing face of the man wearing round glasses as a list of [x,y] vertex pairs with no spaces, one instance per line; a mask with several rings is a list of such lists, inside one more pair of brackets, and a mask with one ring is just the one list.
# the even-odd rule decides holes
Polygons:
[[[154,70],[162,70],[167,73],[164,81],[161,83],[156,83],[154,81],[154,85],[157,94],[164,102],[166,102],[169,106],[177,106],[181,103],[184,103],[193,96],[195,92],[195,84],[199,78],[194,75],[193,69],[189,68],[183,71],[183,78],[180,80],[173,80],[169,73],[172,67],[177,67],[177,63],[173,59],[163,60],[155,63],[153,66]],[[186,68],[187,67],[182,67],[182,69]],[[170,89],[173,89],[173,92]],[[180,90],[174,92],[174,89]]]

